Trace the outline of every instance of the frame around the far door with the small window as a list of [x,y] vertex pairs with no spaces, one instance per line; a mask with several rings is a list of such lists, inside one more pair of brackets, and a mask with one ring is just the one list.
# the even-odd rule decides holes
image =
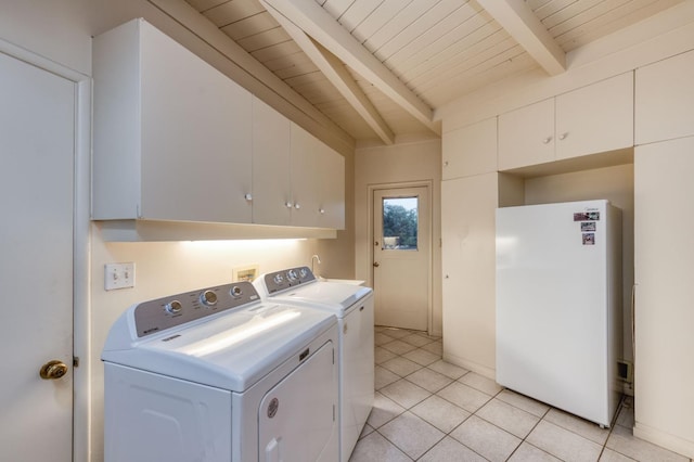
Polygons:
[[429,232],[429,242],[428,242],[428,251],[429,251],[429,259],[427,261],[427,299],[426,299],[426,332],[432,335],[432,329],[434,326],[434,182],[430,180],[422,180],[422,181],[402,181],[396,183],[373,183],[368,184],[369,189],[369,285],[371,287],[374,286],[374,252],[373,252],[373,243],[375,240],[373,229],[374,229],[374,195],[376,191],[381,190],[394,190],[394,189],[406,189],[406,188],[426,188],[428,195],[428,203],[426,206],[429,208],[429,219],[426,223],[423,223],[427,227]]

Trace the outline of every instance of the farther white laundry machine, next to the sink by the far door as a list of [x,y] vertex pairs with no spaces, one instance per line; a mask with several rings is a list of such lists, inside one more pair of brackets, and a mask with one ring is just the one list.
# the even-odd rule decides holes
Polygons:
[[268,301],[334,313],[339,323],[339,453],[347,462],[374,399],[373,291],[318,280],[308,267],[262,274],[254,285]]

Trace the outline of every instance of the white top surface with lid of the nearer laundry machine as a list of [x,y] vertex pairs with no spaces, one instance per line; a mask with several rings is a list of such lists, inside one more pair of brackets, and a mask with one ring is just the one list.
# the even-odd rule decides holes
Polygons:
[[241,393],[335,323],[329,312],[260,304],[150,335],[124,349],[106,347],[102,359]]

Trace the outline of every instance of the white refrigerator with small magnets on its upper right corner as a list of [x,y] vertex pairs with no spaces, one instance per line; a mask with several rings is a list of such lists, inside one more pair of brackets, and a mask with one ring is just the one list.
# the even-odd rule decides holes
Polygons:
[[621,214],[608,201],[497,209],[497,382],[609,426],[619,401]]

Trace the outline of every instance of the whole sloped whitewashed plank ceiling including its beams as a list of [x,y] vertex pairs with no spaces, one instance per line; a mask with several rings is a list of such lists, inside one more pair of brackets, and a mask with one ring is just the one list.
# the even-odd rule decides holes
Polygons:
[[185,0],[357,141],[435,136],[432,112],[682,0]]

